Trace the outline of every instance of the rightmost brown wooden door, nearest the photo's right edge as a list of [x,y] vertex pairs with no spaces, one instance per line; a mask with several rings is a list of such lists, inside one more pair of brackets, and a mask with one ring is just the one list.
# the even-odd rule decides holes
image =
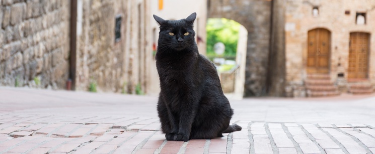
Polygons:
[[368,33],[350,33],[348,79],[366,79],[368,74]]

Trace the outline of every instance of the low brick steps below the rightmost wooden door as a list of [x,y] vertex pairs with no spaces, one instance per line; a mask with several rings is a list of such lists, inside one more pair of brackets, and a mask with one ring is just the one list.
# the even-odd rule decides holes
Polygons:
[[349,82],[348,90],[352,94],[371,94],[373,93],[373,86],[369,81]]

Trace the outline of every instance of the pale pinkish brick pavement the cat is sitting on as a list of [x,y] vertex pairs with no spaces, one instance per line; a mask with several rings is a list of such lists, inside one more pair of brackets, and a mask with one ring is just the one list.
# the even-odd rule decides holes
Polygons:
[[0,153],[375,153],[375,95],[231,101],[241,131],[166,141],[157,97],[0,87]]

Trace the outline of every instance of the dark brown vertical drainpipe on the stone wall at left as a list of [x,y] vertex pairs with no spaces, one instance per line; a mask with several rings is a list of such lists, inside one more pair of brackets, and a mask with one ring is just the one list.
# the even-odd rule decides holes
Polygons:
[[[76,90],[76,64],[77,64],[77,0],[70,1],[70,55],[69,55],[69,80],[71,90]],[[69,82],[69,81],[68,81]],[[67,89],[70,90],[70,89]]]

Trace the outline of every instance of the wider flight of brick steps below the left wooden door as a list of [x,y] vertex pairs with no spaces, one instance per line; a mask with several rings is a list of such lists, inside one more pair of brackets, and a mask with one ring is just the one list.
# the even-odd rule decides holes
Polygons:
[[308,97],[340,95],[329,74],[309,74],[305,80],[305,87]]

